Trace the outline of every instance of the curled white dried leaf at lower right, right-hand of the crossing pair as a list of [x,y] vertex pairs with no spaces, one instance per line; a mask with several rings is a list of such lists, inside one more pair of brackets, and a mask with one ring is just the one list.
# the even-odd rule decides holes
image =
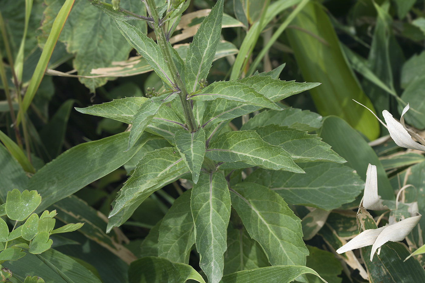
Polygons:
[[[372,261],[376,250],[378,248],[380,248],[386,242],[388,242],[388,241],[398,242],[398,241],[402,241],[404,238],[406,238],[407,235],[409,235],[409,233],[413,230],[414,226],[416,226],[416,224],[418,224],[420,218],[421,218],[421,215],[409,217],[409,218],[403,219],[402,221],[399,221],[399,222],[397,222],[393,225],[381,227],[381,228],[384,228],[384,229],[382,230],[382,232],[379,233],[379,235],[377,236],[376,240],[374,241],[374,243],[372,245],[370,260]],[[380,229],[380,228],[378,228],[378,229]],[[366,230],[366,231],[368,231],[368,230]]]

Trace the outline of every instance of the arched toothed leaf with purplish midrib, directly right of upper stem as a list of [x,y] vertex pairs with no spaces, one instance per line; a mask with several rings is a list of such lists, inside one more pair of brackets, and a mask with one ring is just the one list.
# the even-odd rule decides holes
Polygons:
[[271,99],[266,98],[263,94],[258,93],[254,88],[247,84],[236,82],[213,82],[199,93],[189,96],[194,100],[214,100],[217,98],[245,102],[250,105],[256,105],[275,110],[281,110],[278,105],[274,104]]

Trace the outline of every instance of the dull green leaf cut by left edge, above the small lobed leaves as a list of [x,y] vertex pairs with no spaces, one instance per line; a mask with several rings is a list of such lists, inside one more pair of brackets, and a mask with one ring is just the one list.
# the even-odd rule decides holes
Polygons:
[[21,192],[26,189],[28,177],[18,161],[0,144],[0,199],[6,206],[7,192],[17,188]]

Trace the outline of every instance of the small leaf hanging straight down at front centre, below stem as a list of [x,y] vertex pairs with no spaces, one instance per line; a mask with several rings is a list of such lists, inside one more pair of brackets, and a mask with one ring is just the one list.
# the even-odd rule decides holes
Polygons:
[[205,131],[200,128],[195,133],[178,130],[174,136],[176,147],[184,163],[192,172],[193,182],[198,182],[201,165],[205,155]]

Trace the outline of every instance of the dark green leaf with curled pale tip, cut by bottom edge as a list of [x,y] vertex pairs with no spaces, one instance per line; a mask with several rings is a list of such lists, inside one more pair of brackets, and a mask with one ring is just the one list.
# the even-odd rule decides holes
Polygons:
[[192,266],[158,257],[144,257],[133,261],[128,277],[134,283],[184,283],[189,279],[205,283]]

